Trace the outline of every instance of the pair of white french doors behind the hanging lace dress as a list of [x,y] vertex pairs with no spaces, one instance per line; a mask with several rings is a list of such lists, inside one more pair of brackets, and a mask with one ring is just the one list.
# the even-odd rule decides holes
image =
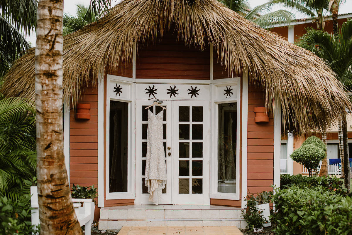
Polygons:
[[[136,200],[152,204],[144,185],[147,110],[150,100],[136,101]],[[166,100],[164,150],[167,181],[161,204],[209,204],[209,101]],[[162,111],[157,105],[154,114]]]

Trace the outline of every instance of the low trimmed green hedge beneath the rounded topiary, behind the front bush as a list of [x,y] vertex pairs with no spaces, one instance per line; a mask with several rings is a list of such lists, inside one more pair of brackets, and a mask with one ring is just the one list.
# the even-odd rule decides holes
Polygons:
[[280,188],[288,188],[291,186],[298,186],[299,188],[311,188],[315,186],[322,186],[323,188],[333,191],[338,194],[346,194],[347,190],[343,186],[344,181],[337,177],[306,177],[304,175],[280,175]]

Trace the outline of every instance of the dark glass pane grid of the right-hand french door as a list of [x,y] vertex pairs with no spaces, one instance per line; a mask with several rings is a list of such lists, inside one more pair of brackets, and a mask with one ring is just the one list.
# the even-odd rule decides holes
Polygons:
[[[203,193],[203,106],[179,106],[178,111],[178,193]],[[180,151],[182,143],[188,151]],[[195,153],[193,147],[201,147],[201,154]]]

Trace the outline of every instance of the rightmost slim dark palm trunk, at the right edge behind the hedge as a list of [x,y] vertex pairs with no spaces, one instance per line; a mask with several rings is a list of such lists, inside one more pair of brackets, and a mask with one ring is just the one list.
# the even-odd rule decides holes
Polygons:
[[348,154],[348,136],[347,136],[347,119],[346,112],[342,114],[342,135],[344,138],[344,162],[341,162],[341,165],[344,166],[344,171],[341,170],[341,176],[345,177],[345,188],[347,188],[347,192],[350,193],[351,185],[350,185],[350,157]]

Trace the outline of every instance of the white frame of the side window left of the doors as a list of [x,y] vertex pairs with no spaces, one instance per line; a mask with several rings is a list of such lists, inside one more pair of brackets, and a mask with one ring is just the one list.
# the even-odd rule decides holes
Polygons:
[[[130,97],[129,98],[120,98],[118,96],[112,97],[110,96],[110,82],[119,82],[121,84],[125,84],[130,88]],[[134,80],[131,78],[126,78],[122,76],[115,76],[107,74],[107,82],[106,82],[106,177],[105,177],[105,190],[106,190],[106,200],[114,200],[114,199],[134,199],[136,197],[135,193],[135,183],[136,180],[132,178],[135,175],[135,159],[132,156],[135,156],[135,149],[132,148],[134,146],[134,138],[135,135],[135,99],[134,99]],[[110,100],[120,101],[128,103],[128,133],[127,133],[127,192],[109,192],[109,147],[110,147]]]

